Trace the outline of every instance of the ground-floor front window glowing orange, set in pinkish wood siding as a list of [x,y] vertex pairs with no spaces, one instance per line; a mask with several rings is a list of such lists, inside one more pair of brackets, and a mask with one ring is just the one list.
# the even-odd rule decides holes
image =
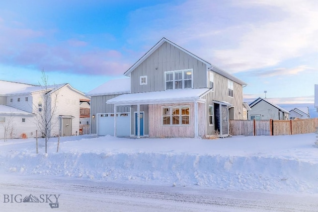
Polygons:
[[162,107],[162,125],[189,125],[190,106],[164,106]]

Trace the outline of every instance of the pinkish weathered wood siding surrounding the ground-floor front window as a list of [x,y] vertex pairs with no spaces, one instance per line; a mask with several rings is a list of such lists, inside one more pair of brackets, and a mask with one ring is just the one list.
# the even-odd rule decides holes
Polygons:
[[[190,124],[184,126],[163,126],[162,107],[190,105]],[[194,103],[154,104],[149,105],[149,137],[155,138],[193,138],[194,137]]]

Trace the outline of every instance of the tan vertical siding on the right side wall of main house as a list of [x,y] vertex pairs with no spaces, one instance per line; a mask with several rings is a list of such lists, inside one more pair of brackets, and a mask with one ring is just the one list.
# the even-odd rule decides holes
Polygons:
[[[208,92],[203,98],[206,99],[206,114],[209,114],[209,105],[213,105],[213,101],[225,101],[233,105],[230,109],[229,119],[243,119],[243,92],[242,85],[234,81],[234,97],[229,96],[228,78],[214,72],[214,88]],[[215,125],[215,124],[214,124]],[[209,119],[206,119],[207,135],[213,135],[215,126],[209,126]]]

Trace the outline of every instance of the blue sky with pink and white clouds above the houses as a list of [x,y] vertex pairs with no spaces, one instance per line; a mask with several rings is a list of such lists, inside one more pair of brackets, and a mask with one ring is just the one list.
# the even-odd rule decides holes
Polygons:
[[2,0],[0,79],[88,92],[162,37],[247,82],[246,100],[314,104],[317,0]]

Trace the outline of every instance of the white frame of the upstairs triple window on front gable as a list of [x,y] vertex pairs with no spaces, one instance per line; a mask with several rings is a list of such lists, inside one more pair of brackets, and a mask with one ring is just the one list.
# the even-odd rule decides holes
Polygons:
[[[190,72],[190,74],[187,74]],[[172,79],[171,75],[172,74]],[[179,74],[181,74],[181,79],[179,78]],[[167,79],[167,75],[169,75],[169,79]],[[191,75],[190,78],[187,78],[186,76]],[[189,81],[190,87],[189,87]],[[167,83],[172,83],[172,88],[167,86]],[[180,88],[180,82],[182,82],[182,87]],[[176,84],[179,85],[176,88]],[[193,69],[184,69],[184,70],[174,70],[174,71],[164,71],[164,90],[174,90],[174,89],[187,89],[187,88],[193,88]]]

